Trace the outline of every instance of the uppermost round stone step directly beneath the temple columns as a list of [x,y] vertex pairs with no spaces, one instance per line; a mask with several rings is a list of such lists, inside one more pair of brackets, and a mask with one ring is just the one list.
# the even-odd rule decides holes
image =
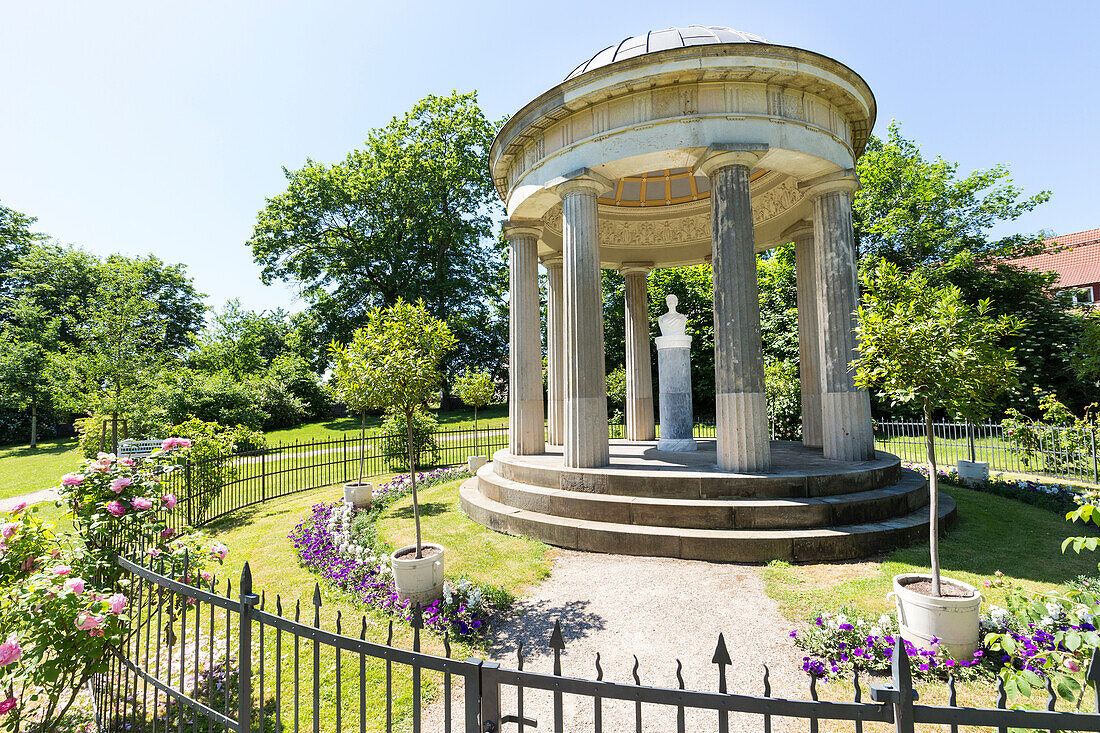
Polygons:
[[[613,449],[622,451],[615,442]],[[901,480],[901,460],[881,451],[873,460],[857,463],[829,461],[820,451],[785,441],[772,441],[772,451],[782,463],[768,473],[719,471],[713,450],[661,453],[656,459],[613,452],[610,466],[595,469],[563,467],[560,452],[549,450],[538,456],[501,450],[493,457],[493,469],[502,478],[531,486],[651,499],[834,496],[884,489]]]

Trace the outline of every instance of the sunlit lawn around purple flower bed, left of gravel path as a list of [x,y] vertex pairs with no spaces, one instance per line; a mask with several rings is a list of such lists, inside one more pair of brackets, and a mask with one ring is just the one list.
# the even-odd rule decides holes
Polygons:
[[[515,594],[530,582],[544,577],[550,568],[550,549],[540,543],[534,543],[513,537],[502,537],[471,522],[458,505],[459,482],[451,482],[429,489],[422,497],[425,508],[424,533],[427,538],[447,547],[447,575],[457,578],[465,575],[471,579],[484,580],[494,584],[503,584],[505,590]],[[283,599],[284,612],[294,615],[295,602],[301,600],[301,617],[312,621],[314,609],[310,599],[317,576],[298,565],[297,556],[287,535],[308,515],[312,504],[321,501],[334,501],[341,495],[339,489],[322,489],[305,492],[299,495],[275,500],[232,513],[206,527],[218,539],[230,548],[230,556],[222,570],[224,576],[240,577],[241,568],[248,560],[252,570],[256,592],[265,593],[266,610],[273,611],[275,599]],[[402,541],[411,533],[411,514],[408,512],[408,500],[398,502],[386,512],[383,534],[391,541]],[[385,642],[388,633],[389,619],[358,605],[352,598],[330,588],[321,588],[321,626],[336,628],[340,614],[343,630],[346,634],[359,636],[365,628],[365,638],[373,642]],[[264,642],[267,668],[267,679],[273,680],[272,660],[275,657],[274,632],[270,632]],[[443,642],[431,633],[422,637],[426,652],[443,654]],[[406,622],[394,624],[394,645],[411,648],[413,633]],[[290,670],[294,668],[295,654],[293,637],[283,638],[284,683],[282,709],[283,719],[287,724],[294,720],[295,707],[294,685]],[[476,641],[452,642],[451,656],[466,658],[480,656],[484,648]],[[336,678],[338,676],[334,655],[328,647],[321,648],[321,729],[333,730],[336,724]],[[312,675],[312,648],[307,639],[302,639],[298,658],[300,679],[302,680],[301,699],[310,700],[310,680]],[[369,659],[363,677],[366,699],[366,724],[370,731],[385,729],[385,665]],[[340,709],[343,721],[358,724],[360,710],[360,667],[359,657],[342,655],[339,676],[342,681],[342,698]],[[442,678],[439,675],[425,672],[425,702],[439,697],[442,689]],[[272,682],[268,681],[268,686]],[[411,677],[408,668],[395,665],[394,668],[394,724],[395,730],[407,730],[410,725],[413,710]],[[267,713],[271,718],[274,710],[274,699],[268,687]],[[455,710],[461,710],[462,696],[453,698]],[[307,704],[301,705],[304,724],[310,718]],[[268,722],[268,726],[272,723]]]

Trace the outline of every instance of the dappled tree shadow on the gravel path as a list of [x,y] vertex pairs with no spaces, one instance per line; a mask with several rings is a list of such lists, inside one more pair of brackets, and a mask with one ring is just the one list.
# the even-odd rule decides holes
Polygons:
[[550,635],[556,621],[561,623],[561,636],[566,648],[570,642],[606,627],[603,616],[592,613],[587,608],[588,601],[516,601],[507,617],[494,623],[490,632],[491,658],[510,659],[514,663],[516,646],[520,642],[524,644],[525,657],[549,655]]

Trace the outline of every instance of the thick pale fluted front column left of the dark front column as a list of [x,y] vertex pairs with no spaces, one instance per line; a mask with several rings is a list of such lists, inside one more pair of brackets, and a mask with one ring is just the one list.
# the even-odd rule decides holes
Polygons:
[[563,453],[569,468],[608,462],[604,310],[600,287],[601,182],[579,176],[558,186],[561,196],[564,294],[565,417]]

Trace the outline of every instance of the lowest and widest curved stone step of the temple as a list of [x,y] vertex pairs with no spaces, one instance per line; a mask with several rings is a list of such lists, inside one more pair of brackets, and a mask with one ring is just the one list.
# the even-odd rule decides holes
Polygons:
[[[463,511],[484,526],[509,535],[592,553],[679,557],[726,562],[825,562],[867,557],[927,536],[924,508],[893,519],[804,529],[697,529],[596,522],[508,506],[479,491],[479,479],[459,490]],[[941,526],[956,516],[955,501],[943,495]]]

